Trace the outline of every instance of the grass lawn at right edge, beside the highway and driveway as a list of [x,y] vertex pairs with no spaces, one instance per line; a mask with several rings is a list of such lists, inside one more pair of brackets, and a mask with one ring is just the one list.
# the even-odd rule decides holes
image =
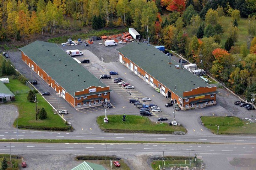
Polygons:
[[219,134],[229,135],[255,135],[256,124],[249,121],[240,121],[238,117],[225,116],[202,116],[204,126],[217,134],[217,126],[219,126]]

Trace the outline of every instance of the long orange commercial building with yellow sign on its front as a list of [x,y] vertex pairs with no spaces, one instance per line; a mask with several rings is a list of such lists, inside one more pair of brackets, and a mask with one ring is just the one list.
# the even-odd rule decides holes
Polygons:
[[160,93],[174,100],[182,110],[216,104],[217,88],[206,84],[160,50],[146,43],[132,42],[120,49],[119,61]]

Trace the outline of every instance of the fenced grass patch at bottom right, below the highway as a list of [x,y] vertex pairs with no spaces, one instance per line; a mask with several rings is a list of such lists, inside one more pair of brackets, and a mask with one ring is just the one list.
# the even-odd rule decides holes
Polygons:
[[[191,167],[197,167],[196,163],[194,162],[194,157],[192,156],[191,158]],[[197,162],[202,162],[200,159],[197,159]],[[199,164],[198,163],[198,166]],[[189,157],[164,157],[164,167],[189,167]],[[158,166],[161,165],[162,167],[162,160],[161,158],[159,158],[159,160],[153,160],[153,162],[151,162],[151,167],[153,169],[159,169]]]

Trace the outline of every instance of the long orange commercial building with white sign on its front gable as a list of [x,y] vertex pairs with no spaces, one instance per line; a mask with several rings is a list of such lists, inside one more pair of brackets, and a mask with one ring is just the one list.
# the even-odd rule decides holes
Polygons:
[[22,60],[30,69],[74,108],[97,106],[103,101],[110,101],[110,87],[57,44],[35,41],[19,49]]

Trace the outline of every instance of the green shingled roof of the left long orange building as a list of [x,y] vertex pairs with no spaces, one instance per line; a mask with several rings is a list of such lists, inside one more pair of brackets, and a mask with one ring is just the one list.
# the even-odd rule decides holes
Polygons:
[[77,63],[57,44],[35,41],[19,49],[73,97],[76,91],[93,85],[107,86],[101,81],[99,83],[99,78]]

